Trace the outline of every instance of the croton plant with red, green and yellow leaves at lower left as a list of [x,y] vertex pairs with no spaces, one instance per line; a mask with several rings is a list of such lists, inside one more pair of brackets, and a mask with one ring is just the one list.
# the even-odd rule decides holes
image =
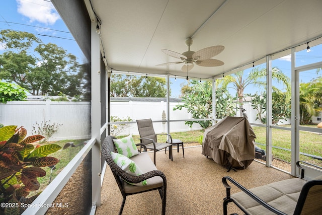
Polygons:
[[44,136],[26,137],[27,130],[24,127],[2,124],[0,127],[0,203],[9,205],[1,207],[0,212],[21,214],[25,209],[21,205],[30,204],[38,196],[28,197],[30,191],[40,187],[37,177],[46,175],[42,167],[54,166],[59,162],[48,155],[61,147],[55,144],[37,145],[36,142]]

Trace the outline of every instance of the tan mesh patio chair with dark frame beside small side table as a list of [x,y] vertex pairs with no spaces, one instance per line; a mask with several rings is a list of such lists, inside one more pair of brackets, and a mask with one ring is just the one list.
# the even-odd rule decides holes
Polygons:
[[157,142],[157,135],[168,135],[168,139],[172,139],[170,134],[166,134],[166,133],[155,133],[154,132],[154,128],[153,128],[153,123],[151,119],[137,119],[136,120],[137,123],[137,128],[139,130],[139,134],[140,134],[140,142],[141,144],[144,144],[146,146],[147,149],[151,149],[153,150],[154,153],[154,157],[153,157],[153,162],[155,165],[155,152],[166,149],[167,147],[169,147],[169,159],[173,159],[172,158],[172,144],[171,143],[160,143]]

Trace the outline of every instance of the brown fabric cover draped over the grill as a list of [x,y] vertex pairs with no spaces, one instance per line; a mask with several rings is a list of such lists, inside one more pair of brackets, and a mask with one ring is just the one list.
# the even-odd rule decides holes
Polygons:
[[205,130],[202,155],[211,157],[227,169],[246,169],[255,158],[255,138],[245,117],[226,116]]

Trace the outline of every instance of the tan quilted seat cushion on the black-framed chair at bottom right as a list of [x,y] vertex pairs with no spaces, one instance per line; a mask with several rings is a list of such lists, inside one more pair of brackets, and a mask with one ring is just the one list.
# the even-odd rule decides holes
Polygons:
[[[293,214],[301,189],[305,183],[306,181],[303,179],[292,178],[249,190],[276,209],[287,214]],[[250,214],[274,214],[244,192],[232,194],[231,197],[239,205],[243,205]]]

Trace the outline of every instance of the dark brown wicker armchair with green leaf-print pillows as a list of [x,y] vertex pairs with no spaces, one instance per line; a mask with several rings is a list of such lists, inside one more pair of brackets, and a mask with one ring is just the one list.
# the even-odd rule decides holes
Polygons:
[[[111,157],[111,152],[115,152],[113,139],[116,139],[116,138],[113,136],[107,136],[104,139],[101,151],[106,163],[111,168],[111,171],[114,175],[114,178],[123,196],[123,201],[122,201],[119,214],[122,214],[126,196],[142,193],[142,192],[148,192],[151,190],[159,191],[160,197],[162,199],[162,214],[166,214],[167,179],[165,174],[156,169],[156,167],[153,165],[150,157],[146,152],[142,152],[142,153],[139,153],[138,155],[131,157],[131,160],[133,160],[138,166],[139,164],[141,164],[139,167],[143,171],[142,175],[132,176],[126,173],[125,171],[123,171],[113,161]],[[136,146],[141,146],[146,151],[146,148],[144,145],[136,144]],[[150,169],[150,171],[146,171],[147,169]],[[135,186],[135,185],[129,184],[129,183],[139,183],[144,180],[147,180],[147,184],[144,186]]]

